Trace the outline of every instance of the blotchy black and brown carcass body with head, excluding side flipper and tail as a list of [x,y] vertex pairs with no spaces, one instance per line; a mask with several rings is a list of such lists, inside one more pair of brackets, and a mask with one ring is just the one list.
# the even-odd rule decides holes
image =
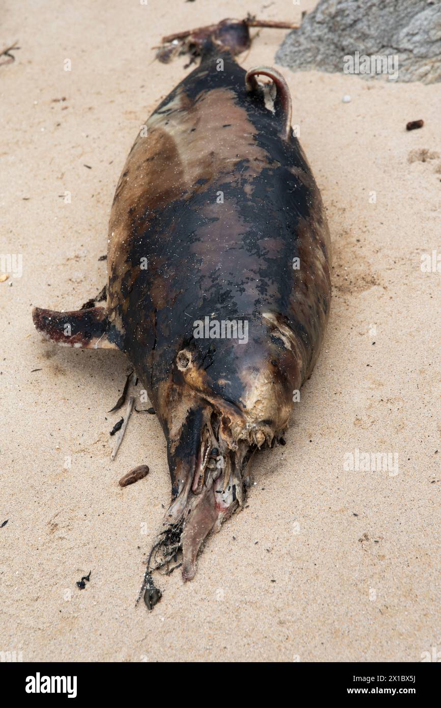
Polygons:
[[[286,429],[329,314],[322,200],[286,84],[268,75],[274,110],[233,57],[208,53],[148,119],[110,216],[107,339],[136,367],[167,438],[172,504],[158,548],[167,561],[182,547],[184,578],[242,503],[249,457]],[[247,321],[247,343],[195,338],[205,316]]]

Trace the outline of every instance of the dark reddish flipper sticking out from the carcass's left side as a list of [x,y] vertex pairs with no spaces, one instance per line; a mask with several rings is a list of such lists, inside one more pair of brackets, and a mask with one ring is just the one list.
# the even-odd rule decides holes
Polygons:
[[122,336],[110,322],[105,307],[56,312],[34,307],[37,331],[60,346],[86,349],[121,349]]

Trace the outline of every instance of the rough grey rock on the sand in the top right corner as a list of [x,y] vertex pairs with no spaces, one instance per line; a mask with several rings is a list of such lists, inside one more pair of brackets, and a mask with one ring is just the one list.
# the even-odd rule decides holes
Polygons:
[[[440,0],[321,0],[305,16],[298,30],[290,32],[276,55],[276,62],[290,69],[341,72],[344,57],[359,52],[365,57],[389,57],[384,64],[364,62],[374,73],[363,78],[397,81],[441,81]],[[395,59],[394,59],[395,57]],[[397,62],[394,65],[393,62]],[[346,60],[345,73],[349,62]]]

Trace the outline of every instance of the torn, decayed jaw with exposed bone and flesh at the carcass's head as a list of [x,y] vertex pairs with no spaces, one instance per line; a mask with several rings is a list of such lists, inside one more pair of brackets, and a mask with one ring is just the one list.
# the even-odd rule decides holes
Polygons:
[[167,575],[180,567],[180,554],[182,577],[190,580],[194,576],[196,556],[208,534],[220,530],[223,522],[244,504],[250,486],[249,459],[274,437],[271,426],[258,426],[242,413],[237,415],[234,409],[223,410],[217,405],[204,413],[201,424],[194,467],[180,461],[182,470],[176,475],[179,492],[148,556],[140,596],[150,587],[152,573]]

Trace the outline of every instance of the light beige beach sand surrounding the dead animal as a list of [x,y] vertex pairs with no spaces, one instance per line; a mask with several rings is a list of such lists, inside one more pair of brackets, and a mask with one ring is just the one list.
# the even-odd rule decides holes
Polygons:
[[[79,307],[105,283],[98,257],[119,172],[140,125],[189,72],[182,58],[152,63],[160,37],[248,9],[300,19],[313,4],[4,6],[1,44],[21,48],[0,67],[0,252],[23,254],[23,277],[0,282],[1,651],[420,661],[441,648],[441,275],[420,268],[421,253],[440,252],[441,158],[408,163],[413,149],[441,151],[440,85],[281,69],[334,243],[329,331],[286,447],[255,459],[249,506],[211,537],[194,581],[165,578],[151,614],[134,600],[169,501],[163,433],[154,416],[132,416],[111,463],[117,413],[106,411],[127,361],[42,343],[30,317],[33,304]],[[262,30],[242,64],[274,64],[284,34]],[[406,132],[417,118],[423,130]],[[399,474],[345,472],[355,448],[396,453]],[[141,463],[146,479],[120,489]]]

